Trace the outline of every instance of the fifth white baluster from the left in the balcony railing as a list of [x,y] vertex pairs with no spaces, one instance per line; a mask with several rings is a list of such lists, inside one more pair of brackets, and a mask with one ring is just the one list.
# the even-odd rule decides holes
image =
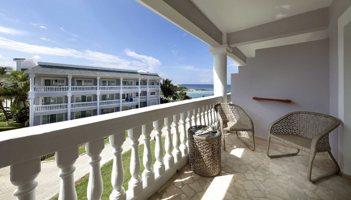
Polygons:
[[128,182],[128,191],[131,191],[132,195],[137,195],[143,190],[143,180],[141,180],[140,173],[140,158],[139,158],[139,137],[141,136],[141,126],[135,127],[128,130],[128,136],[132,140],[132,155],[130,161],[130,172],[132,175],[131,180]]

